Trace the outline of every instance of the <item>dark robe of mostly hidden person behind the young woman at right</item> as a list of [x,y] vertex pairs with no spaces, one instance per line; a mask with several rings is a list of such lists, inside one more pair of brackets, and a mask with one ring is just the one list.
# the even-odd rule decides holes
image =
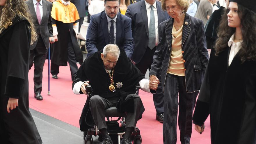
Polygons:
[[217,28],[221,21],[221,16],[225,12],[225,7],[221,6],[218,10],[215,10],[211,17],[208,19],[205,24],[205,37],[206,37],[206,45],[207,49],[211,49],[214,47],[215,40],[218,38],[217,36]]

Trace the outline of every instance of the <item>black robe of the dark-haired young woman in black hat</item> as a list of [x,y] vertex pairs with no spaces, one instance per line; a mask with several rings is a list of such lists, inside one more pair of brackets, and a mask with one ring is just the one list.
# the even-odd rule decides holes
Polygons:
[[256,61],[242,63],[238,52],[228,66],[229,49],[219,56],[211,50],[193,123],[210,114],[212,144],[255,144]]

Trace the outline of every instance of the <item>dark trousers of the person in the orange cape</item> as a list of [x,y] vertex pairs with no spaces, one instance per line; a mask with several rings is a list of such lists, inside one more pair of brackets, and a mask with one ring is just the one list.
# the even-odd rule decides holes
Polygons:
[[[78,67],[77,67],[76,54],[74,51],[74,47],[73,47],[70,35],[69,35],[68,44],[67,44],[67,62],[70,67],[71,79],[72,79],[72,81],[74,81]],[[55,63],[51,63],[51,74],[57,75],[60,72],[59,68],[60,68],[59,65],[57,65]]]

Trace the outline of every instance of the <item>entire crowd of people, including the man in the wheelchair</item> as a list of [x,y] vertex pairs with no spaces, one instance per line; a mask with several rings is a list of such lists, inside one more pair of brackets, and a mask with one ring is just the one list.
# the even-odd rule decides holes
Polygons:
[[[77,34],[86,10],[83,61]],[[153,94],[164,144],[177,142],[177,122],[189,144],[192,124],[201,134],[209,115],[212,144],[255,144],[255,23],[255,0],[0,0],[1,142],[42,143],[29,112],[28,72],[34,65],[34,97],[43,100],[52,45],[52,78],[69,63],[74,94],[93,87],[80,129],[96,125],[103,144],[113,143],[104,115],[112,106],[126,114],[121,144],[132,144],[145,110],[136,85]]]

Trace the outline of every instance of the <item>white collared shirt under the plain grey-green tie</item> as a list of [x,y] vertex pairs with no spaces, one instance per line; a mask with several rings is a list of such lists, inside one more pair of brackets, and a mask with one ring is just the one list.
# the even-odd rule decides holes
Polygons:
[[[144,0],[145,1],[145,0]],[[147,20],[148,20],[148,31],[149,31],[149,23],[150,23],[150,11],[151,11],[151,4],[147,3],[145,1],[146,4],[146,10],[147,10]],[[157,1],[155,1],[155,3],[153,4],[154,6],[154,15],[155,15],[155,26],[156,26],[156,45],[158,45],[158,16],[157,16]]]

